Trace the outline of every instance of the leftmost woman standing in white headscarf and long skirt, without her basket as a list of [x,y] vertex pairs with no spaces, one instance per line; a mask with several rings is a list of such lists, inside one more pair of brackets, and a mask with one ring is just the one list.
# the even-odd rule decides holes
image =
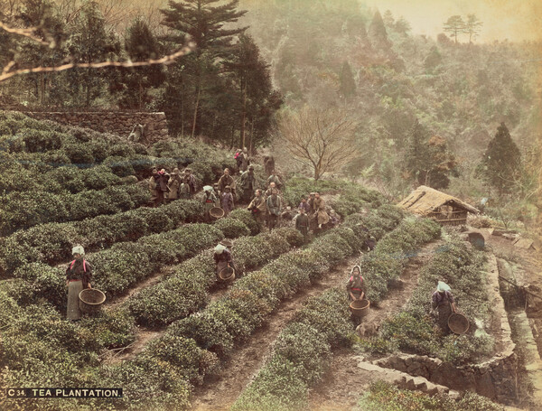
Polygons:
[[79,293],[86,288],[92,288],[92,266],[83,256],[85,250],[81,246],[71,249],[75,258],[66,269],[66,286],[68,287],[68,320],[79,321],[81,319]]

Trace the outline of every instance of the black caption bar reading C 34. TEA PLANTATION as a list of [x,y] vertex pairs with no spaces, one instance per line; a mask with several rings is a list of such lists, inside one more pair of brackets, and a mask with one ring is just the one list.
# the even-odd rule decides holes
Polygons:
[[122,398],[122,388],[6,388],[8,398]]

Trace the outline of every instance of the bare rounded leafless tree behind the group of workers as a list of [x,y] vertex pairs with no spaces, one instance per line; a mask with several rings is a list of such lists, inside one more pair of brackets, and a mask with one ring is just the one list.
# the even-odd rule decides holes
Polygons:
[[313,168],[314,180],[356,157],[357,122],[344,110],[305,106],[278,118],[279,137],[294,159]]

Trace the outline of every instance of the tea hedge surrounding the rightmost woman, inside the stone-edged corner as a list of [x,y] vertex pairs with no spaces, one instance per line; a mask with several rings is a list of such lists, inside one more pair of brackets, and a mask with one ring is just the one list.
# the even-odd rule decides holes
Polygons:
[[[431,295],[438,281],[452,287],[455,304],[469,318],[473,335],[447,335],[435,332],[430,315]],[[472,362],[493,350],[493,338],[483,330],[490,318],[487,284],[481,252],[467,248],[459,238],[451,238],[436,249],[431,262],[418,276],[418,285],[406,309],[383,323],[379,335],[361,341],[361,347],[377,353],[405,350],[438,357],[455,364]]]

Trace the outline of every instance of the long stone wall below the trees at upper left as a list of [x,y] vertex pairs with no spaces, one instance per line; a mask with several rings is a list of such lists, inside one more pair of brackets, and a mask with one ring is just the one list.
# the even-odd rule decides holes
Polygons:
[[25,111],[25,115],[39,120],[51,120],[66,126],[86,127],[101,133],[111,133],[128,137],[132,127],[139,123],[145,126],[145,140],[154,143],[168,136],[167,122],[164,113],[143,112],[51,112]]

